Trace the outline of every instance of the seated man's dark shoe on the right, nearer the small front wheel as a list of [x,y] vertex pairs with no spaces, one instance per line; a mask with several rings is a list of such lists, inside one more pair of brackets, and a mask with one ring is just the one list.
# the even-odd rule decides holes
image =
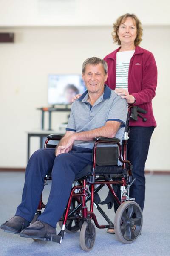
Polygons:
[[56,229],[43,221],[35,221],[29,227],[25,228],[20,236],[28,238],[42,238],[49,235],[56,235]]

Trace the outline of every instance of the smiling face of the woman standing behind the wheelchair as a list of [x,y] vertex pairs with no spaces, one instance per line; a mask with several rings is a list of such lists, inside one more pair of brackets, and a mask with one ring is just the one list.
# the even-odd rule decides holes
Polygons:
[[120,24],[117,34],[121,45],[129,43],[134,44],[137,35],[135,20],[131,17],[127,17],[127,19]]

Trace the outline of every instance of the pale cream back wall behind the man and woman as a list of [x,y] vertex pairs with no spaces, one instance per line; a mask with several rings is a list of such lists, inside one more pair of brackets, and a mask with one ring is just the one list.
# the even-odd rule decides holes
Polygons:
[[[14,44],[0,44],[0,167],[25,167],[27,133],[40,128],[37,107],[47,105],[49,73],[81,73],[82,62],[104,57],[116,49],[111,26],[8,28]],[[159,78],[153,110],[158,127],[146,163],[149,170],[169,170],[169,60],[170,26],[144,26],[141,46],[153,52]],[[54,113],[53,128],[66,114]],[[46,124],[47,127],[47,124]],[[36,149],[37,140],[32,140]]]

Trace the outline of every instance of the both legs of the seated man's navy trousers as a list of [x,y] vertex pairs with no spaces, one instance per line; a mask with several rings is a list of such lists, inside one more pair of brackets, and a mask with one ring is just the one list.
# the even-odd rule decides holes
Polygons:
[[59,154],[57,157],[54,148],[34,152],[28,161],[22,201],[15,215],[32,221],[44,188],[45,175],[52,170],[50,195],[38,220],[56,227],[65,210],[71,184],[87,164],[92,164],[92,151],[87,148],[73,147],[69,153]]

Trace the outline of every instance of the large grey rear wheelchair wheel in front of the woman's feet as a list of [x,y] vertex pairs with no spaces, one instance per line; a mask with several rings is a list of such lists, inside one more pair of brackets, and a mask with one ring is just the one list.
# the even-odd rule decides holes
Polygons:
[[125,201],[116,211],[114,228],[116,239],[124,244],[133,243],[142,230],[142,210],[134,201]]

